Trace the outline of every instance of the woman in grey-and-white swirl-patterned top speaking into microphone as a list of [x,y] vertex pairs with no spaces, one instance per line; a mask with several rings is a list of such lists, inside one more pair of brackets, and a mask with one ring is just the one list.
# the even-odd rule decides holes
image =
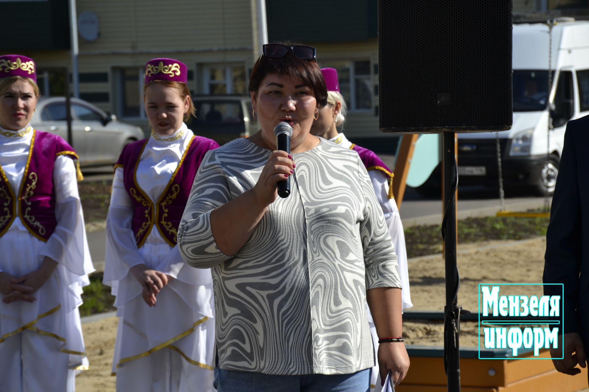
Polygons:
[[[207,153],[178,230],[186,263],[213,273],[220,392],[368,391],[367,300],[387,342],[381,373],[399,383],[409,367],[396,255],[368,173],[357,153],[310,134],[327,99],[315,58],[311,46],[263,46],[249,84],[262,129]],[[290,154],[277,150],[280,122]]]

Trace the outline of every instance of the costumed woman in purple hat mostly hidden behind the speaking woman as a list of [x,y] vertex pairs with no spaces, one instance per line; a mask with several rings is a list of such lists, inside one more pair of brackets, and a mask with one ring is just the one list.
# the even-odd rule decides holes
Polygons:
[[[340,145],[344,148],[355,150],[360,156],[360,160],[368,170],[372,187],[376,193],[376,199],[385,214],[386,225],[389,228],[389,234],[395,246],[395,253],[397,255],[397,262],[399,263],[399,276],[403,284],[401,291],[401,300],[403,309],[412,307],[411,293],[409,292],[409,274],[407,267],[407,251],[405,248],[405,234],[403,233],[403,224],[401,223],[401,216],[399,209],[395,203],[392,193],[393,172],[389,169],[376,153],[369,149],[360,147],[350,142],[346,135],[337,130],[338,126],[342,126],[346,120],[346,101],[339,91],[339,79],[337,78],[337,71],[334,68],[322,68],[323,79],[327,86],[327,105],[319,109],[319,118],[313,123],[311,133],[320,136]],[[378,351],[378,336],[376,336],[376,329],[368,311],[368,323],[372,338],[375,344],[375,350]],[[385,343],[387,344],[387,343]],[[380,390],[380,382],[377,380],[378,363],[372,368],[372,380],[370,381],[371,390],[376,388]]]

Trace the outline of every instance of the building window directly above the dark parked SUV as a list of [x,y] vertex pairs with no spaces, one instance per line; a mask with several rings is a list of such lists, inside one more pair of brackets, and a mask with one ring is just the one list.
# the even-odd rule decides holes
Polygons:
[[206,65],[203,69],[204,93],[236,94],[247,91],[246,68],[240,65]]

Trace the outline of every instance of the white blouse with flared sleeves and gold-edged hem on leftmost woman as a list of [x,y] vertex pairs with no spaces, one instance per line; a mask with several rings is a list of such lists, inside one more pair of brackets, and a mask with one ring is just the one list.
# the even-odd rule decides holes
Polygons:
[[[0,166],[17,195],[34,133],[32,128],[28,132],[27,129],[29,126],[18,131],[0,128]],[[58,263],[54,279],[49,279],[34,293],[37,297],[34,303],[18,301],[5,304],[0,301],[0,335],[5,336],[58,308],[48,316],[39,318],[34,325],[39,330],[64,338],[63,349],[83,353],[78,306],[82,304],[82,287],[90,284],[88,274],[94,271],[94,267],[88,249],[74,161],[68,156],[57,156],[52,177],[57,217],[54,233],[47,242],[43,242],[29,233],[16,216],[0,237],[0,272],[22,276],[37,270],[45,257],[50,257]],[[18,199],[18,203],[21,200]],[[20,205],[16,209],[18,211]],[[88,366],[88,360],[85,355],[71,354],[70,365],[84,369]]]

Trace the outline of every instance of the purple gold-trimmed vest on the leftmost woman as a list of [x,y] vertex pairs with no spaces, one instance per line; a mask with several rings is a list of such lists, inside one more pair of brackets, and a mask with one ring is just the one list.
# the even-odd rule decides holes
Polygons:
[[[29,232],[47,242],[57,226],[53,167],[59,155],[78,159],[74,149],[57,135],[33,131],[31,148],[20,189],[10,186],[0,167],[0,236],[18,216]],[[20,200],[17,212],[16,200]]]

